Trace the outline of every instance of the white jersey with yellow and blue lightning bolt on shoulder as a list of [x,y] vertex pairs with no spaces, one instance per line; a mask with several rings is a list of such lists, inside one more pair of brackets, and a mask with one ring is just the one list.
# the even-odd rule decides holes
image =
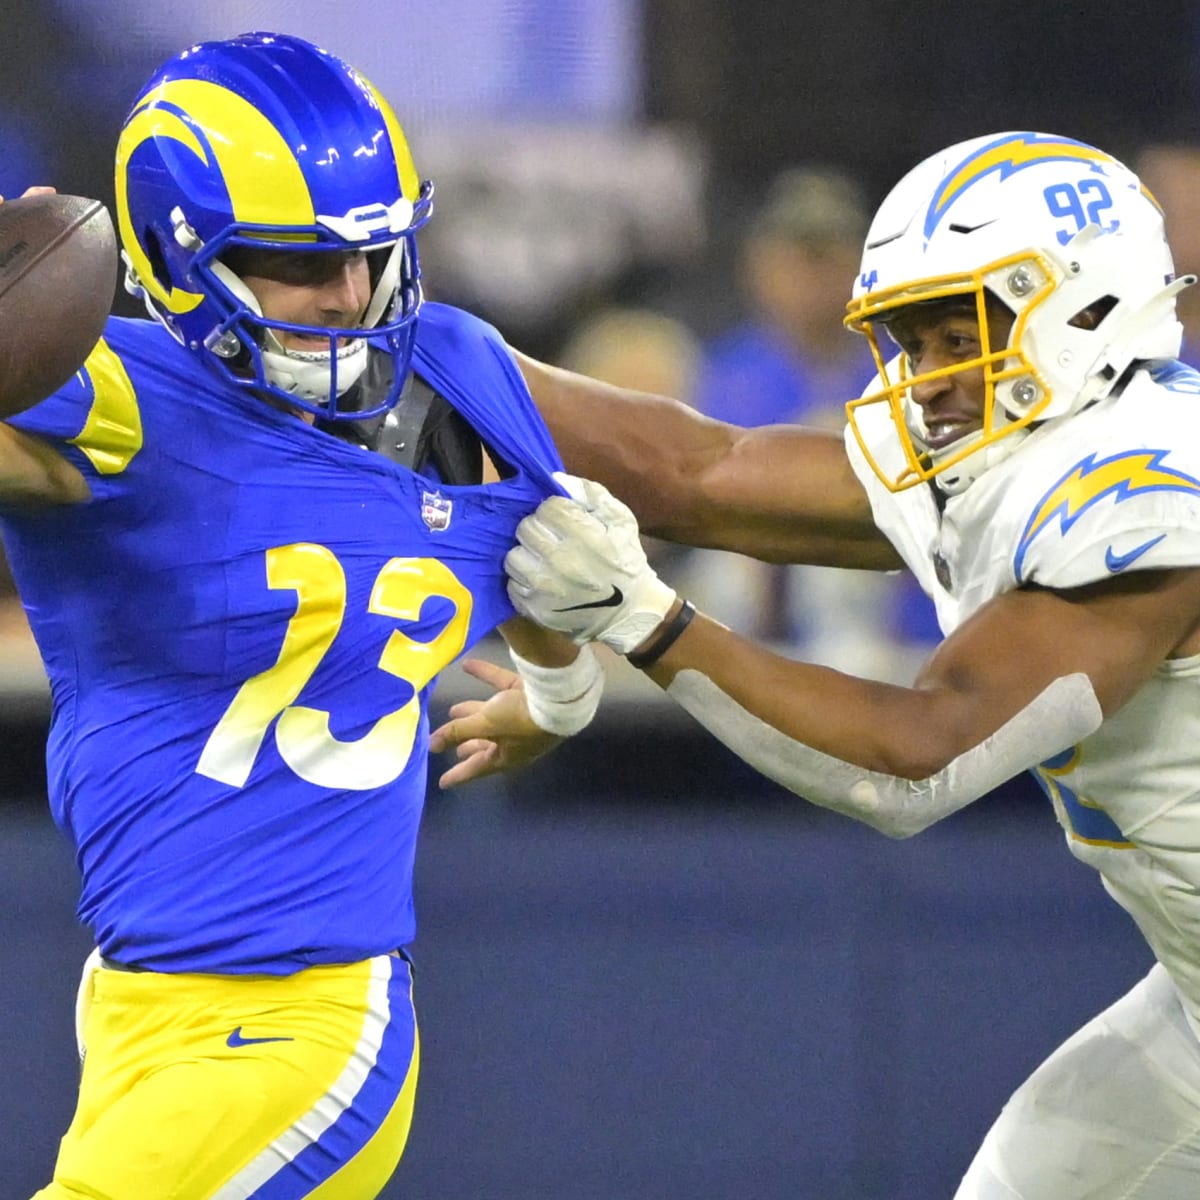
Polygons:
[[[871,451],[899,470],[886,413]],[[1033,433],[946,500],[890,493],[853,437],[875,520],[949,634],[1022,584],[1073,588],[1200,565],[1200,374],[1139,371],[1118,394]],[[1080,745],[1036,768],[1072,852],[1138,922],[1200,1022],[1200,656],[1163,664]]]

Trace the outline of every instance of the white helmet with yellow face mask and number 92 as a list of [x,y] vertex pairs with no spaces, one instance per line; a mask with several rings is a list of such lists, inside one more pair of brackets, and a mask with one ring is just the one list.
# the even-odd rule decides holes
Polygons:
[[[1175,278],[1163,214],[1127,167],[1094,146],[1049,133],[994,133],[914,167],[880,206],[866,235],[846,324],[871,343],[880,378],[847,404],[851,427],[892,491],[936,479],[961,492],[1043,421],[1108,395],[1138,360],[1178,355]],[[1014,314],[1007,346],[988,342],[985,293]],[[904,305],[973,296],[980,355],[913,377],[877,334]],[[1073,323],[1085,310],[1094,328]],[[890,361],[888,361],[890,359]],[[938,451],[925,443],[910,389],[983,368],[983,428]],[[904,448],[881,468],[858,410],[887,404]]]

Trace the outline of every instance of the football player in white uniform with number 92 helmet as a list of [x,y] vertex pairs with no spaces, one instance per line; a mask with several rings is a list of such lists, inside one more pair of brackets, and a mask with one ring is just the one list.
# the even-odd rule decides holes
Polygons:
[[[1000,133],[883,202],[847,324],[878,377],[844,439],[734,431],[523,364],[569,468],[647,532],[907,565],[946,640],[911,688],[782,659],[656,578],[601,484],[508,558],[534,620],[626,654],[805,799],[916,834],[1021,770],[1158,965],[1000,1115],[959,1200],[1200,1195],[1200,376],[1162,214],[1111,156]],[[584,404],[586,400],[586,404]],[[457,706],[454,785],[527,752],[521,692]]]

